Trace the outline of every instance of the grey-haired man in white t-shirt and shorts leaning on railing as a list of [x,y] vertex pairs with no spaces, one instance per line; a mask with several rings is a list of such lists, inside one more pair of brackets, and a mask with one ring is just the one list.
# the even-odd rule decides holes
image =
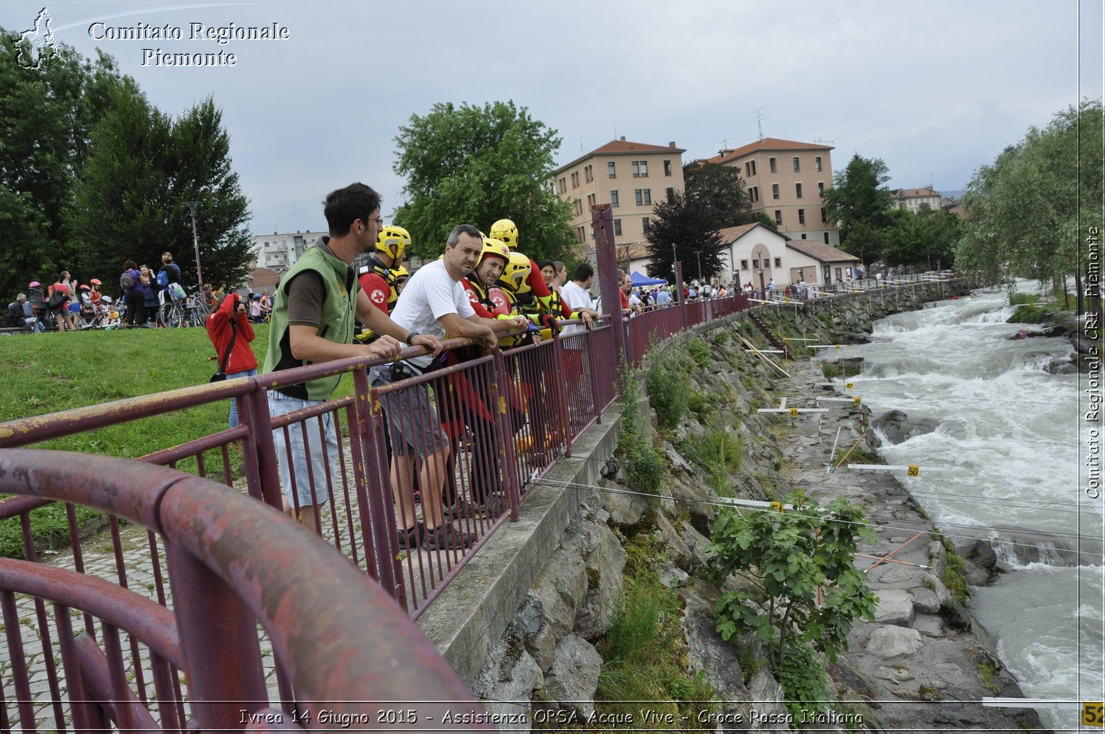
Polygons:
[[[420,268],[399,295],[391,321],[414,335],[444,338],[470,337],[494,349],[497,345],[491,323],[477,316],[469,302],[461,279],[472,272],[483,249],[480,230],[460,224],[449,234],[445,254]],[[411,337],[408,337],[410,339]],[[403,344],[402,346],[407,346]],[[440,355],[436,359],[444,357]],[[381,387],[431,371],[442,365],[423,355],[391,365],[373,367],[372,387]],[[430,549],[456,549],[471,545],[475,537],[454,531],[444,516],[441,487],[449,463],[449,439],[431,407],[425,384],[381,396],[391,431],[391,492],[398,513],[399,547],[422,545]],[[422,523],[415,523],[412,493],[414,460],[421,460],[419,487],[422,492]]]

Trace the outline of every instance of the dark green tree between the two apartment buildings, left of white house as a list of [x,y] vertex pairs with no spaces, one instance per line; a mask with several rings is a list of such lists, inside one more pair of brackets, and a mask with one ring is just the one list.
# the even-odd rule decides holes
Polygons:
[[709,279],[724,270],[722,238],[717,228],[704,224],[703,207],[703,200],[691,200],[682,191],[653,207],[648,234],[650,276],[674,283],[675,260],[683,261],[685,280]]

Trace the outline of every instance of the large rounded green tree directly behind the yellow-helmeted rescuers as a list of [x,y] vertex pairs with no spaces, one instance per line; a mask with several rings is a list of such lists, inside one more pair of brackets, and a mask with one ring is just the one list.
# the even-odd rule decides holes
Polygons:
[[424,116],[411,115],[396,145],[393,169],[408,197],[396,222],[410,230],[420,255],[443,252],[456,224],[486,232],[511,219],[530,258],[570,259],[571,208],[548,186],[560,138],[526,107],[438,103]]

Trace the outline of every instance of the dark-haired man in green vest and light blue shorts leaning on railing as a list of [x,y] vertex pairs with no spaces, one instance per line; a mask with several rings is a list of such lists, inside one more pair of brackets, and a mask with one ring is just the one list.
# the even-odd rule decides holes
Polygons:
[[[436,336],[413,334],[397,325],[371,304],[357,283],[351,263],[357,255],[376,249],[380,195],[364,184],[351,184],[332,191],[325,207],[329,237],[319,238],[304,252],[276,289],[263,371],[343,357],[396,359],[400,342],[428,347],[436,356],[441,352]],[[380,338],[369,345],[354,344],[357,319]],[[330,397],[340,379],[340,375],[320,377],[270,390],[269,412],[278,416],[322,402]],[[305,431],[299,426],[291,427],[287,441],[283,429],[273,431],[284,485],[284,510],[316,529],[318,508],[329,500],[329,482],[337,479],[338,443],[333,413],[324,413],[322,421],[326,433],[325,457],[315,419],[307,422]]]

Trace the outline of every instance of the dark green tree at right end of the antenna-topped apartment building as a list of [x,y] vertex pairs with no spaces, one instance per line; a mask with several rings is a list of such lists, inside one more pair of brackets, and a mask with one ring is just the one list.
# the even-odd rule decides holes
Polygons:
[[840,223],[840,245],[864,263],[878,260],[890,224],[890,169],[881,158],[852,156],[821,195],[830,221]]

